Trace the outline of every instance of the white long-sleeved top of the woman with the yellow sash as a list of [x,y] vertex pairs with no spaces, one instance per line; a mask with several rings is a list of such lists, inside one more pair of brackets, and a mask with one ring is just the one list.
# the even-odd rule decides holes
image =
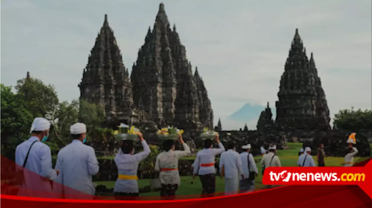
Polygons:
[[[124,154],[121,149],[115,156],[115,164],[118,167],[118,175],[137,175],[138,164],[147,158],[151,150],[146,141],[141,141],[143,146],[143,151],[137,154]],[[115,192],[122,193],[138,193],[137,180],[122,180],[116,179]]]

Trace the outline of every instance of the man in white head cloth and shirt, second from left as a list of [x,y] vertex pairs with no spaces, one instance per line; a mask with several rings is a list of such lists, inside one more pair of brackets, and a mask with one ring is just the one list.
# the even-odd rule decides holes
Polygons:
[[[70,127],[73,141],[58,152],[56,168],[61,173],[55,182],[56,192],[63,192],[65,198],[93,198],[96,189],[92,175],[99,171],[96,153],[85,145],[87,126],[75,123]],[[61,190],[62,188],[62,190]]]

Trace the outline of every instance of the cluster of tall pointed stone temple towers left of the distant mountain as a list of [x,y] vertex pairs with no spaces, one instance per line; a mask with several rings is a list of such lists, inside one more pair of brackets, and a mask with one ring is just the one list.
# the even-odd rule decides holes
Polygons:
[[176,26],[170,28],[164,4],[129,77],[121,51],[105,21],[79,85],[80,99],[104,106],[112,125],[133,123],[144,129],[175,125],[188,131],[213,128],[213,111],[204,82],[186,58]]

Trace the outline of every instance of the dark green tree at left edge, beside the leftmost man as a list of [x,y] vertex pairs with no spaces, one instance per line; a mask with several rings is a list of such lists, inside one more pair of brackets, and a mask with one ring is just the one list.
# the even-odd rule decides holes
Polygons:
[[26,103],[0,84],[0,154],[14,159],[16,146],[28,139],[33,117]]

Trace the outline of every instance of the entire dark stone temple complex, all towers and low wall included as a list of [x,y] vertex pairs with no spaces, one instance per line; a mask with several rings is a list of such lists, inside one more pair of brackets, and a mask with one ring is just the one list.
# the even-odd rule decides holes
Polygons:
[[[185,140],[193,140],[195,149],[201,141],[195,139],[204,127],[214,128],[222,141],[234,140],[239,146],[251,143],[253,153],[260,146],[276,143],[285,148],[286,141],[300,141],[314,151],[320,142],[328,155],[344,156],[348,132],[331,130],[330,112],[315,66],[299,36],[298,29],[280,79],[276,119],[267,103],[257,122],[257,131],[222,131],[221,120],[213,125],[213,110],[208,92],[198,68],[186,58],[176,26],[173,29],[164,4],[161,3],[154,27],[148,28],[144,44],[138,50],[131,75],[122,61],[121,51],[105,20],[83,70],[78,85],[80,99],[102,105],[106,124],[115,128],[120,122],[134,124],[144,132],[147,141],[157,143],[157,128],[175,125],[184,129]],[[350,133],[350,132],[349,132]],[[366,135],[357,133],[360,156],[369,156]],[[195,142],[194,142],[195,141]]]

